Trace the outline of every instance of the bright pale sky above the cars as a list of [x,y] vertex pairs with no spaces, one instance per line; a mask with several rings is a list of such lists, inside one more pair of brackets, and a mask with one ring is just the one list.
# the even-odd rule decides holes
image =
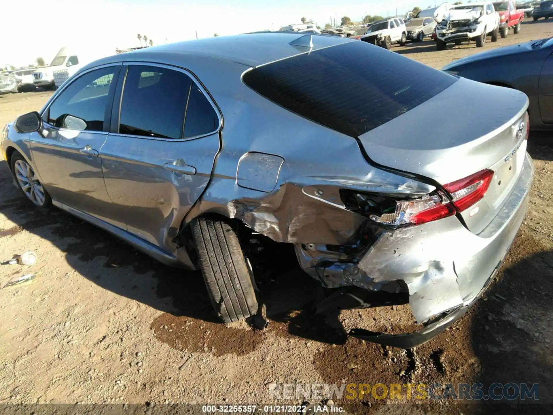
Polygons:
[[[0,65],[28,65],[38,56],[46,64],[62,46],[111,55],[115,48],[138,46],[137,34],[156,44],[179,42],[213,33],[229,35],[278,30],[301,23],[301,17],[324,27],[347,15],[405,13],[436,0],[5,0],[2,4]],[[441,3],[438,1],[437,3]],[[6,18],[11,17],[11,18]],[[100,58],[101,56],[98,56]]]

